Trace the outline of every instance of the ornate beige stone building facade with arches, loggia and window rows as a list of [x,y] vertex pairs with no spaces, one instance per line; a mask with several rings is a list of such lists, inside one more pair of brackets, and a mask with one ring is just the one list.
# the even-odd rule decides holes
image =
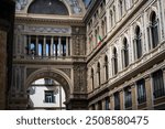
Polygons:
[[11,109],[41,77],[64,86],[67,109],[165,109],[165,0],[61,1],[69,15],[16,2]]

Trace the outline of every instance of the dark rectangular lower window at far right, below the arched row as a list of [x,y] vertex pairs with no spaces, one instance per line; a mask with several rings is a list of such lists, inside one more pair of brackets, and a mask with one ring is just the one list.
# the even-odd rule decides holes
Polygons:
[[165,96],[163,71],[160,69],[153,73],[152,77],[153,77],[154,97],[158,98],[158,97]]

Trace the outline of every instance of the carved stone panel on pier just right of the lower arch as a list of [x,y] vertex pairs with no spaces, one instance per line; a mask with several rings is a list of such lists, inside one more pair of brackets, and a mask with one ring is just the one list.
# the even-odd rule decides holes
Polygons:
[[84,93],[87,90],[86,87],[86,66],[76,65],[74,66],[74,92]]

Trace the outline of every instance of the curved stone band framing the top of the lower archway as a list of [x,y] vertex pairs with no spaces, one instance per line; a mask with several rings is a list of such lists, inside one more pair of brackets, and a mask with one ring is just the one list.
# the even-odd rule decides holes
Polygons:
[[72,92],[72,83],[69,77],[62,71],[59,69],[46,69],[46,68],[42,68],[38,69],[34,73],[32,73],[25,80],[25,89],[28,89],[31,84],[40,78],[52,78],[57,80],[64,88],[65,94],[66,94],[66,98],[69,97],[70,92]]

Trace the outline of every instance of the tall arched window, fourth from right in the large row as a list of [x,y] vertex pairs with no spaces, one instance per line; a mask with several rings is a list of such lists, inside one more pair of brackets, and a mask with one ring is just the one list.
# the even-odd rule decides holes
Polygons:
[[113,49],[113,54],[112,54],[112,69],[113,69],[113,75],[118,73],[118,54],[117,54],[117,49]]

